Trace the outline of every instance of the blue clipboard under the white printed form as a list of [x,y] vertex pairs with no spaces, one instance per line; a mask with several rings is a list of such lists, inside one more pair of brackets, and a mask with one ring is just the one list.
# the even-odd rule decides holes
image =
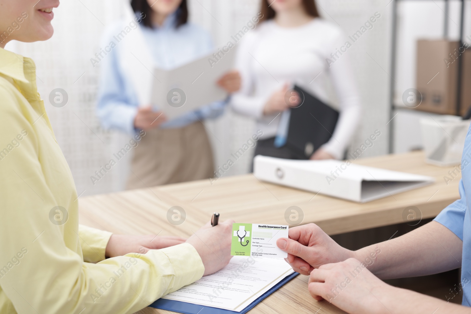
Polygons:
[[262,294],[259,298],[254,300],[249,306],[244,308],[240,312],[224,310],[221,308],[210,307],[210,306],[201,306],[197,304],[175,301],[175,300],[167,300],[167,299],[158,299],[154,303],[150,305],[150,307],[160,308],[161,310],[167,310],[172,312],[178,312],[183,314],[231,314],[231,313],[238,313],[244,314],[250,311],[254,306],[259,304],[261,300],[267,298],[270,294],[278,290],[281,286],[283,286],[286,282],[289,282],[294,277],[296,277],[299,273],[292,273],[284,277],[280,282],[278,282],[275,286],[273,286],[270,290]]

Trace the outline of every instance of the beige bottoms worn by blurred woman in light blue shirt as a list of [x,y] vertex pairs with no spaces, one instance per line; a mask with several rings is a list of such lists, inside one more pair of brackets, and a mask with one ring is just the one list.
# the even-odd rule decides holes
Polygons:
[[146,131],[134,150],[131,170],[128,189],[213,177],[211,144],[203,123]]

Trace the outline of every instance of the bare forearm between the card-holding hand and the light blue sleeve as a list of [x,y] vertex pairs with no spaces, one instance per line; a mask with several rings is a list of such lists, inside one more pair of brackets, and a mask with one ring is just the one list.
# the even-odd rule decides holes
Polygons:
[[[398,238],[355,251],[365,261],[380,250],[368,269],[381,279],[436,274],[461,266],[463,242],[447,227],[432,221]],[[368,264],[368,263],[366,263]]]

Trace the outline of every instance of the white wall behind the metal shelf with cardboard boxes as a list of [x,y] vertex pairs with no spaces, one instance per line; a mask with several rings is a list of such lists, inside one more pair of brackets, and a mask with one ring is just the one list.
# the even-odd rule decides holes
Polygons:
[[[466,1],[469,4],[469,1]],[[422,147],[420,119],[429,117],[429,113],[401,109],[402,94],[406,89],[415,88],[416,84],[416,42],[420,39],[441,39],[444,35],[444,23],[448,24],[448,39],[459,39],[461,19],[461,1],[450,0],[447,16],[445,1],[406,0],[398,3],[398,45],[395,105],[394,112],[394,153],[405,153]],[[471,35],[471,7],[465,6],[464,40]],[[397,113],[397,115],[396,115]],[[435,116],[435,114],[431,114]]]

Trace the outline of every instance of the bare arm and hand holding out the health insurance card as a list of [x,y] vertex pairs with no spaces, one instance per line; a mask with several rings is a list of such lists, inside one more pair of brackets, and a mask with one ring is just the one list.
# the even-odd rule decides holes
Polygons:
[[435,221],[357,251],[342,248],[314,224],[290,228],[289,232],[290,239],[278,240],[277,245],[289,253],[287,261],[301,274],[348,258],[364,263],[382,279],[436,274],[461,266],[463,242]]

